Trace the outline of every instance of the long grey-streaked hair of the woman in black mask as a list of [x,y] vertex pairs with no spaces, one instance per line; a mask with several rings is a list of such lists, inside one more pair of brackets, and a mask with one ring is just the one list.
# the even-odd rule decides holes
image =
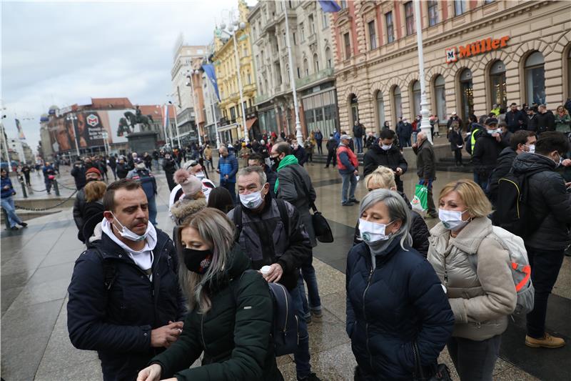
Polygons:
[[[193,227],[198,235],[211,245],[212,262],[205,274],[197,274],[186,268],[181,243],[181,232],[186,227]],[[205,208],[188,217],[181,226],[177,227],[176,247],[178,252],[178,282],[181,284],[190,310],[198,305],[199,312],[206,314],[211,309],[211,295],[208,295],[208,284],[223,274],[228,262],[228,253],[234,244],[234,224],[226,214],[214,208]]]

